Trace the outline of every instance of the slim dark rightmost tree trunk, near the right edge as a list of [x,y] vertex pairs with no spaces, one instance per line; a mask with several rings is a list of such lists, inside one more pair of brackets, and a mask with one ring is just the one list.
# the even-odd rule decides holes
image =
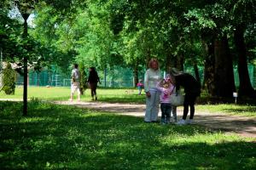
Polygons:
[[240,96],[255,97],[256,91],[250,82],[248,67],[247,67],[247,49],[243,37],[243,26],[236,26],[234,39],[236,44],[236,52],[238,54],[238,75],[239,75],[239,90]]

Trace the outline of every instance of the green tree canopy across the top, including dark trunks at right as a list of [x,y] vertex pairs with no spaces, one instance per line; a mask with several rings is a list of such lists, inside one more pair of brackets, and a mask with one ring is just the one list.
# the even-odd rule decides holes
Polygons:
[[26,41],[20,21],[9,17],[8,2],[1,3],[0,27],[6,59],[22,61],[26,53],[31,63],[55,63],[64,70],[73,62],[101,70],[123,65],[135,77],[150,58],[159,59],[164,71],[191,65],[196,75],[200,65],[203,87],[218,97],[236,91],[233,65],[238,65],[239,93],[255,96],[247,72],[256,57],[253,0],[13,1],[33,8]]

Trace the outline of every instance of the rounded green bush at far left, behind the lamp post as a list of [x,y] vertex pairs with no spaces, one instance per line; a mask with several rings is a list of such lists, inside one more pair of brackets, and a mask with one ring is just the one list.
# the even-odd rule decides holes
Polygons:
[[5,94],[15,94],[16,72],[8,63],[3,69],[3,91]]

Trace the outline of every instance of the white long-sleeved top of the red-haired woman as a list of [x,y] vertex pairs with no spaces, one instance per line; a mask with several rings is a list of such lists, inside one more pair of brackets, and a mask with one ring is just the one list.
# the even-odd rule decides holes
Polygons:
[[161,72],[159,70],[154,70],[154,69],[148,69],[145,73],[144,77],[144,89],[145,92],[148,92],[149,90],[154,90],[156,91],[156,85],[160,80],[162,79],[161,77]]

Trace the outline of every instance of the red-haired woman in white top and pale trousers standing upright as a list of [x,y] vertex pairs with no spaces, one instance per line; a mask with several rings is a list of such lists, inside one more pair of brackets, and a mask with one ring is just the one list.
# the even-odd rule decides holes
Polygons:
[[146,111],[144,122],[157,122],[160,92],[156,85],[161,80],[159,62],[157,59],[150,59],[148,62],[149,69],[145,72],[144,90],[146,93]]

